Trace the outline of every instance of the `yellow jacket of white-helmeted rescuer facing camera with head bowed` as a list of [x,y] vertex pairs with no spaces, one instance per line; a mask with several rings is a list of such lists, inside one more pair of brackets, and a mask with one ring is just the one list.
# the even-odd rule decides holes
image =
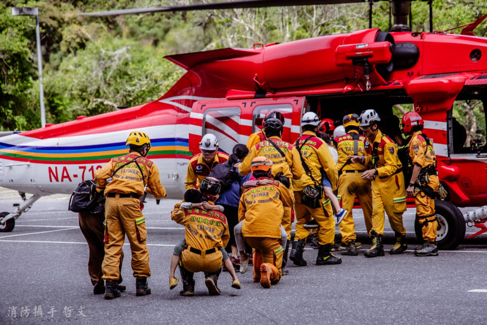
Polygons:
[[184,180],[184,187],[186,189],[199,188],[199,184],[203,179],[210,175],[212,169],[217,164],[223,164],[228,160],[228,155],[223,152],[217,152],[215,158],[213,158],[212,164],[206,164],[203,159],[203,155],[200,153],[195,154],[188,163],[188,170],[186,173],[186,179]]

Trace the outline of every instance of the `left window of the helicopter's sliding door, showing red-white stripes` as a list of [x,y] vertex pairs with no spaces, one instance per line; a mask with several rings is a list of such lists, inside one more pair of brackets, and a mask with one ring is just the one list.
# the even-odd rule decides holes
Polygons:
[[233,146],[239,143],[240,109],[237,107],[208,109],[203,114],[201,136],[214,134],[219,149],[231,153]]

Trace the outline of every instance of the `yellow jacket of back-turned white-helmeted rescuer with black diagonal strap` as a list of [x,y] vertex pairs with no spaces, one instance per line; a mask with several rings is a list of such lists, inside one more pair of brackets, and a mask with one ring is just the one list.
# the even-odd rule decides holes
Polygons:
[[[309,140],[304,143],[308,138]],[[318,185],[322,184],[321,173],[324,171],[330,180],[332,189],[335,190],[337,188],[338,173],[326,142],[318,138],[314,132],[304,131],[302,136],[296,140],[295,148],[301,151],[303,159],[311,171],[311,176]],[[297,181],[293,181],[294,190],[302,190],[307,185],[315,185],[315,183],[304,173],[303,168],[302,177]]]

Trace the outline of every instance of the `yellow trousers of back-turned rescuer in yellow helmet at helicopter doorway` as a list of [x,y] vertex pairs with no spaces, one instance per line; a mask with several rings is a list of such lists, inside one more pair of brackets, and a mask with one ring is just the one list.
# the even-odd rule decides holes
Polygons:
[[364,211],[365,226],[367,233],[372,229],[372,190],[370,181],[362,179],[362,172],[343,171],[338,178],[338,196],[343,209],[349,211],[339,225],[341,241],[348,243],[357,239],[355,234],[355,223],[352,211],[355,203],[355,196],[359,200]]

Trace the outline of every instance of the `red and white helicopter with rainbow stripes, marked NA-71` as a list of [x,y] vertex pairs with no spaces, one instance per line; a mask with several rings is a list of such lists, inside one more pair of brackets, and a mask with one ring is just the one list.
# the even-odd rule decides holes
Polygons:
[[[87,15],[347,2],[363,1],[237,1]],[[465,129],[456,126],[451,108],[455,101],[487,100],[487,39],[473,34],[487,15],[463,26],[460,35],[411,32],[410,2],[391,5],[390,32],[368,28],[249,49],[169,55],[187,72],[158,100],[0,138],[0,186],[18,190],[22,198],[14,211],[0,214],[0,231],[12,231],[15,219],[42,196],[71,193],[80,181],[92,179],[111,157],[126,152],[125,139],[134,129],[149,135],[149,158],[159,166],[169,197],[180,198],[188,160],[199,152],[203,134],[215,134],[220,149],[230,152],[234,144],[247,142],[271,110],[284,114],[283,139],[293,142],[306,111],[341,120],[374,108],[394,137],[399,125],[392,107],[412,103],[425,120],[448,190],[447,201],[437,203],[439,244],[457,247],[466,222],[479,228],[475,235],[486,232],[487,206],[465,216],[457,206],[487,202],[487,146],[484,140],[454,145]],[[27,199],[25,193],[33,195]],[[419,227],[416,231],[421,237]]]

